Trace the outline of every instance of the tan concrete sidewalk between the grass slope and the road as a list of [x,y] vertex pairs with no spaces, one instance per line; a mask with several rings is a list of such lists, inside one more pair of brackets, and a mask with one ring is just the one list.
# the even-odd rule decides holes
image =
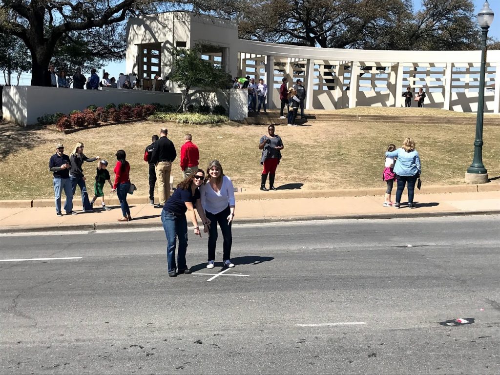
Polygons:
[[[416,190],[416,208],[406,207],[403,193],[401,208],[383,207],[383,189],[345,189],[317,191],[247,191],[236,193],[234,223],[272,222],[300,219],[390,218],[467,214],[500,214],[500,183],[484,185],[427,186]],[[395,189],[393,190],[395,192]],[[425,193],[422,193],[425,192]],[[394,196],[394,195],[393,195]],[[130,196],[132,221],[117,221],[121,210],[116,197],[110,199],[110,211],[96,209],[76,215],[55,215],[53,200],[49,206],[33,201],[0,202],[0,232],[28,230],[94,230],[123,227],[161,227],[161,209],[147,204],[147,197]],[[79,195],[73,199],[80,208]],[[97,202],[98,203],[98,202]],[[47,204],[42,204],[47,205]],[[8,207],[9,206],[9,207]],[[95,204],[98,206],[98,204]],[[188,220],[189,223],[189,220]]]

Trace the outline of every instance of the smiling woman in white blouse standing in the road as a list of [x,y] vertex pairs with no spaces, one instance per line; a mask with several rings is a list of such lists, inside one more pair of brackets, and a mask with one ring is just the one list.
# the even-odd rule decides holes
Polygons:
[[201,205],[205,209],[206,217],[211,222],[208,231],[208,264],[206,268],[213,268],[215,265],[217,224],[220,226],[224,238],[222,267],[234,267],[230,259],[232,245],[231,223],[234,217],[234,187],[229,177],[224,175],[218,160],[212,160],[208,163],[205,183],[200,186],[199,190]]

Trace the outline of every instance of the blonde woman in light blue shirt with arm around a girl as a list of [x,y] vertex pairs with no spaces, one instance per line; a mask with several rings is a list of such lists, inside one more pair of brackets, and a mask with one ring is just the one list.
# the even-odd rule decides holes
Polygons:
[[415,182],[421,173],[420,157],[418,151],[415,150],[415,142],[410,137],[406,137],[401,148],[394,151],[387,151],[385,152],[385,156],[397,157],[393,168],[397,181],[394,207],[399,208],[404,185],[408,183],[408,208],[415,208],[413,203]]

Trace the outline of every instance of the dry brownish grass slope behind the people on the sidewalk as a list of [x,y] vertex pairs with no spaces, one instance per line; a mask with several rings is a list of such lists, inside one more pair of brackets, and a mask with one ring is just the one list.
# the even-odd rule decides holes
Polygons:
[[[367,112],[365,108],[342,112],[353,112],[353,109],[362,110],[363,114]],[[387,109],[393,114],[401,114],[401,110],[409,114],[405,108],[370,108],[369,113],[389,114]],[[435,111],[432,114],[456,116],[456,112]],[[48,171],[48,159],[59,141],[63,142],[67,154],[76,142],[81,141],[87,156],[98,155],[107,159],[111,178],[114,177],[114,154],[116,150],[124,149],[131,166],[130,179],[137,186],[136,194],[147,195],[147,164],[142,157],[145,146],[151,142],[151,135],[159,134],[162,126],[168,128],[168,137],[178,153],[184,134],[189,132],[200,149],[200,166],[204,168],[209,160],[218,159],[236,187],[259,188],[262,166],[259,164],[261,150],[258,149],[258,140],[267,133],[265,125],[233,122],[186,125],[142,121],[61,134],[4,124],[0,129],[0,199],[51,198],[52,173]],[[399,146],[405,136],[413,137],[416,142],[425,184],[463,183],[464,172],[472,161],[475,126],[314,122],[301,127],[276,126],[276,134],[281,136],[285,147],[275,185],[303,183],[302,189],[314,190],[384,186],[381,179],[384,151],[388,143]],[[489,176],[499,176],[500,126],[484,126],[483,139],[483,161]],[[84,163],[89,195],[93,193],[95,167],[96,162]],[[182,176],[178,157],[172,175],[175,185]],[[106,186],[105,193],[108,191]]]

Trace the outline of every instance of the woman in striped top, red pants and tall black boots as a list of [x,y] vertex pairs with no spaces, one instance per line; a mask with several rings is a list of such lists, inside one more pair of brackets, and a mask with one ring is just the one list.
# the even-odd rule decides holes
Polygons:
[[[274,125],[271,124],[267,126],[267,132],[269,135],[262,135],[258,145],[258,149],[262,150],[260,164],[264,166],[260,179],[260,190],[264,191],[268,191],[269,189],[277,190],[274,187],[274,176],[276,173],[276,167],[279,164],[279,159],[281,159],[280,151],[284,148],[281,137],[274,134]],[[267,174],[269,174],[269,189],[265,187]]]

